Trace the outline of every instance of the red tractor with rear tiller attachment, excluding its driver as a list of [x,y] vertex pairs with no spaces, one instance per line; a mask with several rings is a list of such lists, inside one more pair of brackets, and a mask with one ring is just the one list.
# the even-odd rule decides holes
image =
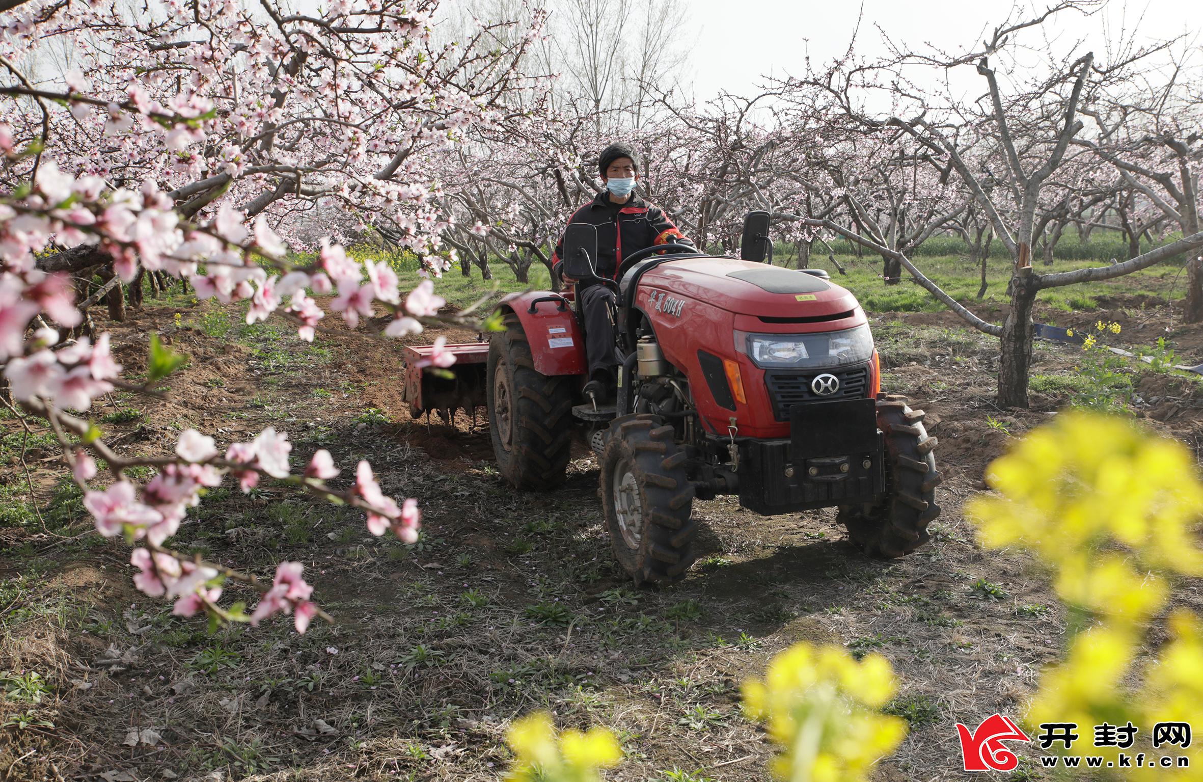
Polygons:
[[[505,330],[487,348],[455,346],[452,378],[410,371],[414,411],[487,404],[498,466],[521,490],[562,484],[583,431],[615,555],[636,582],[685,576],[693,500],[718,494],[764,515],[836,506],[865,553],[909,553],[940,514],[936,438],[921,410],[879,392],[855,297],[822,271],[761,262],[768,229],[768,213],[748,215],[743,260],[658,245],[603,279],[597,229],[569,225],[565,274],[617,294],[616,402],[583,396],[574,297],[539,291],[503,300]],[[410,350],[413,367],[423,349]]]

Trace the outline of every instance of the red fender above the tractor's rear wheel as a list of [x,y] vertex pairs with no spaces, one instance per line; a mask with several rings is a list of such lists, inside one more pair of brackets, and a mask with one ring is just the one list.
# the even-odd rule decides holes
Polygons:
[[527,291],[510,294],[502,300],[500,308],[517,315],[535,372],[586,374],[585,339],[570,301],[551,291]]

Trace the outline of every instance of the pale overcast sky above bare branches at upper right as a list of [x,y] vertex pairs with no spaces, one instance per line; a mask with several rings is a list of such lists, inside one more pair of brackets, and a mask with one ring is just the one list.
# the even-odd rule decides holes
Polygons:
[[[841,54],[861,17],[857,0],[686,0],[697,32],[691,46],[687,73],[699,100],[719,90],[748,94],[761,73],[783,76],[801,72],[804,57],[823,63]],[[1025,4],[1026,5],[1026,4]],[[1039,2],[1043,10],[1049,2]],[[931,42],[946,51],[980,47],[982,31],[1007,18],[1009,0],[864,0],[857,49],[867,55],[883,53],[881,32],[912,46]],[[1024,14],[1029,17],[1032,14]],[[1142,18],[1143,17],[1143,18]],[[1018,18],[1018,14],[1017,14]],[[1048,23],[1060,45],[1086,38],[1098,59],[1104,58],[1104,38],[1137,22],[1145,38],[1187,34],[1203,42],[1203,4],[1198,0],[1138,0],[1107,4],[1095,17],[1061,12]],[[1027,34],[1031,36],[1031,34]],[[1031,36],[1025,40],[1038,43]]]

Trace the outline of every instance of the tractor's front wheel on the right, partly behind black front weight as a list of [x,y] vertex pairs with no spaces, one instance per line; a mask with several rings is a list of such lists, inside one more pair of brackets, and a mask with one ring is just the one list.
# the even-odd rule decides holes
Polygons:
[[936,438],[928,436],[923,417],[923,410],[912,410],[902,397],[877,401],[877,425],[885,433],[885,497],[843,505],[837,516],[852,543],[871,557],[911,553],[928,543],[928,525],[940,515]]

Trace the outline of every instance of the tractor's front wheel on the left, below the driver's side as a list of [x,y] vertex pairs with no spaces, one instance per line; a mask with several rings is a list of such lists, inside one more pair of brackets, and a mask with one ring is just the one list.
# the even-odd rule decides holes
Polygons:
[[615,557],[635,583],[672,583],[693,564],[698,527],[685,458],[659,416],[624,415],[610,425],[602,511]]

